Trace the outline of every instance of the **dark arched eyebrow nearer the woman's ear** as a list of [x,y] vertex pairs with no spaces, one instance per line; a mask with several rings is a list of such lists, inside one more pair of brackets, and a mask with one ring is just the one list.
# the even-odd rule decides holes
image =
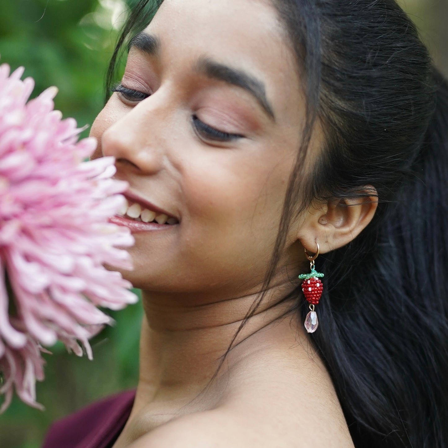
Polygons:
[[203,73],[207,76],[207,78],[217,79],[246,90],[254,96],[258,101],[258,104],[260,104],[271,120],[275,121],[274,111],[266,97],[266,89],[263,82],[259,79],[244,70],[234,69],[228,65],[215,62],[207,57],[202,57],[198,60],[196,69],[199,73]]

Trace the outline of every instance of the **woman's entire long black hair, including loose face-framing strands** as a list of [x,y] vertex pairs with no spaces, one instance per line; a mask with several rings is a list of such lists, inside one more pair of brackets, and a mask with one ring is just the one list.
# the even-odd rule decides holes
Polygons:
[[[136,4],[109,84],[120,48],[161,3]],[[315,198],[365,196],[360,191],[373,185],[379,204],[372,222],[319,257],[326,290],[310,341],[357,448],[447,446],[448,84],[394,0],[273,4],[303,69],[307,121],[263,286],[295,213]],[[316,119],[326,144],[307,174],[303,160]],[[290,297],[303,322],[301,288]]]

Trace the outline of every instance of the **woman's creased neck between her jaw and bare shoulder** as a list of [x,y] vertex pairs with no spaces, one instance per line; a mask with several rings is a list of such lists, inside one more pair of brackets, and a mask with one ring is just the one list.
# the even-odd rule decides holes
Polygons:
[[[233,342],[237,346],[228,354],[223,371],[228,372],[242,356],[259,349],[258,344],[251,345],[251,335],[288,312],[291,302],[281,299],[292,289],[293,285],[288,283],[276,284],[266,291]],[[155,402],[181,408],[210,383],[259,293],[218,300],[216,297],[142,291],[145,314],[133,414],[144,413]],[[220,375],[216,377],[218,382]],[[216,399],[219,393],[213,396]]]

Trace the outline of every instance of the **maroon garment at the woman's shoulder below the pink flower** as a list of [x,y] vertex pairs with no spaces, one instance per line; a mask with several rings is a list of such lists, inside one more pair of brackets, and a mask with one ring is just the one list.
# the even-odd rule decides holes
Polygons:
[[125,426],[134,397],[135,390],[121,392],[57,420],[42,448],[108,448]]

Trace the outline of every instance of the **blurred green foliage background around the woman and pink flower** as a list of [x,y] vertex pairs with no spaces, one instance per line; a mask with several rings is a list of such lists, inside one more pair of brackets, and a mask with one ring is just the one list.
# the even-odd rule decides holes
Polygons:
[[[436,61],[448,74],[448,2],[399,3],[422,29]],[[25,66],[25,76],[36,82],[34,95],[57,86],[56,108],[65,117],[75,117],[80,127],[91,125],[103,106],[105,72],[125,17],[123,0],[6,0],[0,8],[0,62],[12,69]],[[86,135],[88,129],[82,134]],[[1,448],[38,448],[56,419],[136,386],[141,303],[108,313],[116,324],[91,341],[93,362],[68,354],[62,344],[45,355],[46,379],[38,383],[37,397],[46,410],[32,409],[15,398],[0,416]]]

